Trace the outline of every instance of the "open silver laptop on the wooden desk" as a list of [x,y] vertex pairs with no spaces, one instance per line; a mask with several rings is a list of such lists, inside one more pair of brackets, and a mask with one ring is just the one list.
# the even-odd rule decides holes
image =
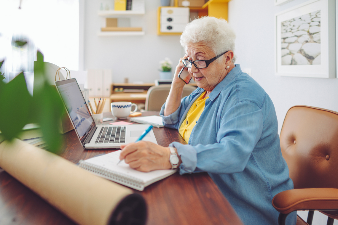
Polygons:
[[[83,148],[117,148],[135,142],[149,127],[146,124],[96,125],[75,78],[55,81],[75,132]],[[157,144],[151,130],[142,140]]]

